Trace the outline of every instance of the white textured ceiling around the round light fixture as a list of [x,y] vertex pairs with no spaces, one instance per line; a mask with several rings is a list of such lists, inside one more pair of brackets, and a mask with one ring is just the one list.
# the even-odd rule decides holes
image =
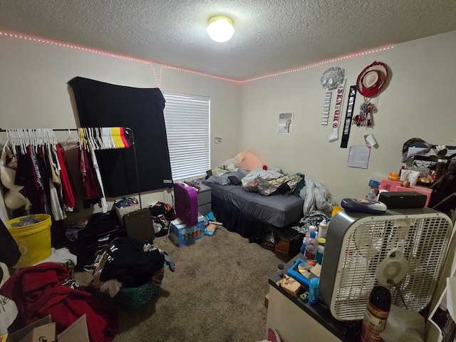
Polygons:
[[[231,41],[207,36],[215,14]],[[239,80],[454,31],[455,17],[454,0],[0,0],[1,31]]]

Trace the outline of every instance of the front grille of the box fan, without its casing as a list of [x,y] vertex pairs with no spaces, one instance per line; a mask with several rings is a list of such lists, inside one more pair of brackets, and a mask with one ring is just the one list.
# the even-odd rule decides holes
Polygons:
[[440,214],[367,219],[354,224],[344,237],[333,311],[341,320],[363,318],[371,289],[378,284],[375,270],[392,249],[403,252],[408,273],[390,286],[391,304],[404,308],[404,301],[408,310],[421,311],[430,303],[452,225]]

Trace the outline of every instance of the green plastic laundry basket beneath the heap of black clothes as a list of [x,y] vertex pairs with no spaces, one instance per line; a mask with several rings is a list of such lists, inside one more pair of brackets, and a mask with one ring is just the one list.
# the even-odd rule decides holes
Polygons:
[[152,301],[159,289],[160,286],[152,283],[145,283],[138,287],[121,287],[114,298],[125,309],[136,310]]

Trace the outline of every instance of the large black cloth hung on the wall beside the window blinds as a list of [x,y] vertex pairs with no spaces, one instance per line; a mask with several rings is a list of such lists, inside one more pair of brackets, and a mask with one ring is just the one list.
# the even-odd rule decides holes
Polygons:
[[140,189],[133,148],[95,151],[106,197],[172,187],[166,138],[165,98],[159,88],[132,88],[75,77],[73,89],[81,127],[128,127],[133,130]]

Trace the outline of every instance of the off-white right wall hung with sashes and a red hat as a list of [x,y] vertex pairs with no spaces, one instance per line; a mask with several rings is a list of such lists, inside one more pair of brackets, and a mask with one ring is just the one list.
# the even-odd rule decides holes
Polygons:
[[[456,145],[456,31],[395,45],[378,53],[327,63],[305,71],[243,83],[240,91],[239,141],[242,149],[257,154],[268,166],[284,172],[302,172],[323,182],[340,202],[344,197],[364,197],[372,175],[387,177],[398,171],[402,148],[410,138],[434,145]],[[351,127],[348,147],[365,145],[363,135],[378,142],[371,148],[368,169],[347,166],[348,148],[339,140],[328,142],[336,100],[333,91],[331,122],[321,125],[326,90],[323,71],[338,66],[346,71],[346,96],[341,118],[346,115],[349,86],[373,61],[390,67],[392,76],[378,98],[373,128]],[[357,93],[354,114],[363,101]],[[276,133],[279,113],[294,112],[291,135]],[[260,133],[260,134],[259,134]]]

